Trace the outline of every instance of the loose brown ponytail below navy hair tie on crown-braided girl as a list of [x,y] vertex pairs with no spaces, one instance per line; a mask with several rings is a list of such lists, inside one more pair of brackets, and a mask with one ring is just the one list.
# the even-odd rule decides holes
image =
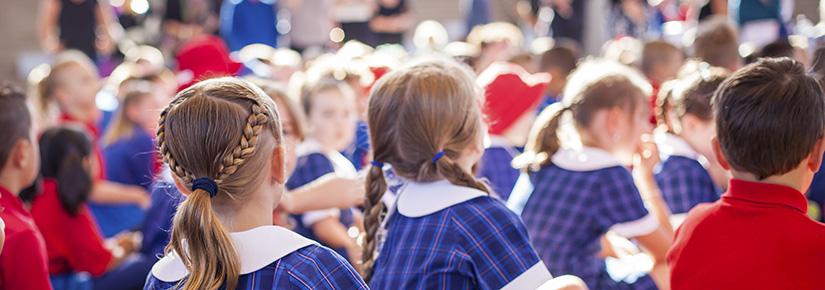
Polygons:
[[178,254],[189,270],[182,289],[212,290],[224,282],[228,290],[237,287],[240,257],[229,232],[215,214],[206,190],[194,190],[178,207],[172,221],[172,239],[167,251],[169,249]]

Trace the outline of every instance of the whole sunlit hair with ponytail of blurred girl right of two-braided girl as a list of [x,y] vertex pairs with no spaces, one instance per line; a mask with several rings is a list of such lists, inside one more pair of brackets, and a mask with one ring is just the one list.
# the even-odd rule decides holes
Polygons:
[[650,95],[650,85],[632,68],[612,61],[596,60],[583,63],[570,75],[561,103],[545,108],[530,129],[524,153],[513,160],[522,170],[535,171],[549,164],[561,148],[558,130],[564,113],[570,112],[575,128],[581,132],[590,127],[598,111],[622,107],[636,110],[639,102]]

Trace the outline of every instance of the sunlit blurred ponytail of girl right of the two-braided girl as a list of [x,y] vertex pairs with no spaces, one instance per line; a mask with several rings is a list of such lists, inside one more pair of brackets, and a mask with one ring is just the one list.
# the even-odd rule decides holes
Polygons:
[[561,148],[558,131],[564,113],[570,110],[570,107],[561,103],[545,108],[530,130],[530,138],[524,148],[524,153],[513,159],[513,167],[528,172],[537,171],[549,164],[553,154]]

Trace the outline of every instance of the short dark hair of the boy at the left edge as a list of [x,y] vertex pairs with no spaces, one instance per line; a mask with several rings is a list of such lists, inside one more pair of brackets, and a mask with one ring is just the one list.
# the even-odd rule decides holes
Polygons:
[[26,96],[10,84],[0,85],[0,168],[5,166],[9,154],[20,139],[29,139],[32,117]]

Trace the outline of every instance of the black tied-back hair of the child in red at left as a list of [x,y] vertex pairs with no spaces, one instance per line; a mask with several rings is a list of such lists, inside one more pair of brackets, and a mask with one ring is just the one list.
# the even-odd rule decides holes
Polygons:
[[92,177],[83,167],[91,150],[89,136],[77,129],[55,127],[40,137],[40,173],[57,181],[57,196],[71,215],[77,215],[92,191]]

